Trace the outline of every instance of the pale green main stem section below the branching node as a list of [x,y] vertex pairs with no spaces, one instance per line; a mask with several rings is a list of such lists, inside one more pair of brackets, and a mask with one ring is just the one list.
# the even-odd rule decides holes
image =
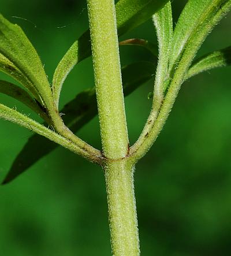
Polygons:
[[134,168],[126,159],[123,159],[107,163],[104,169],[112,254],[140,255],[133,185]]

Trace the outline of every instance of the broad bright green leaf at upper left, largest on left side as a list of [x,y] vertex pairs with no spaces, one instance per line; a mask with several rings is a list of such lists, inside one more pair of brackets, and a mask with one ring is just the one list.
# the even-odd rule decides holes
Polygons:
[[[30,84],[28,89],[34,97],[40,101],[38,98],[40,95],[44,102],[49,103],[51,99],[50,85],[38,54],[23,30],[17,24],[10,23],[1,14],[0,53],[3,55],[2,59],[5,57],[3,61],[9,61],[9,67],[16,67],[14,76],[23,75],[23,79],[27,77]],[[28,83],[25,86],[28,86]]]

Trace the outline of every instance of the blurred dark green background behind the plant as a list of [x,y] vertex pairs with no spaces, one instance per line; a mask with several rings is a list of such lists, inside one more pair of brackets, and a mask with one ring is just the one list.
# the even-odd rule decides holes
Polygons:
[[[174,22],[185,2],[173,1]],[[50,80],[65,51],[88,27],[85,1],[3,0],[1,13],[24,29]],[[229,14],[198,55],[230,46],[230,25]],[[122,38],[133,37],[156,42],[151,21]],[[139,47],[121,48],[122,65],[148,58]],[[230,67],[215,69],[184,83],[157,142],[136,166],[142,255],[231,255],[230,72]],[[10,80],[2,74],[0,79]],[[66,79],[61,106],[93,84],[88,58]],[[150,111],[152,84],[125,100],[131,143]],[[3,95],[0,101],[29,111]],[[32,133],[3,120],[0,125],[2,180]],[[77,135],[100,148],[98,118]],[[110,255],[100,168],[59,147],[0,187],[0,251],[5,256]]]

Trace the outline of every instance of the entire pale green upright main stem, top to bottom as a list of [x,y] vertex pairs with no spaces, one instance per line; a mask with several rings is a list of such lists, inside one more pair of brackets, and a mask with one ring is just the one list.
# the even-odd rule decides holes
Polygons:
[[133,168],[113,0],[87,0],[113,255],[139,255]]

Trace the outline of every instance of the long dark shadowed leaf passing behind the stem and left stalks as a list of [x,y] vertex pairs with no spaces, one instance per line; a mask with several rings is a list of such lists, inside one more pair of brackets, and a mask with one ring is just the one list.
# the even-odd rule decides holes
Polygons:
[[[131,94],[137,87],[153,77],[155,65],[151,62],[140,61],[122,68],[122,81],[124,95]],[[88,123],[97,114],[95,88],[80,92],[72,101],[61,110],[64,113],[64,123],[77,132],[84,124]],[[33,150],[36,147],[36,151]],[[33,135],[28,139],[23,150],[14,160],[4,183],[8,183],[15,177],[25,172],[44,155],[49,154],[58,147],[57,144],[39,135]]]

